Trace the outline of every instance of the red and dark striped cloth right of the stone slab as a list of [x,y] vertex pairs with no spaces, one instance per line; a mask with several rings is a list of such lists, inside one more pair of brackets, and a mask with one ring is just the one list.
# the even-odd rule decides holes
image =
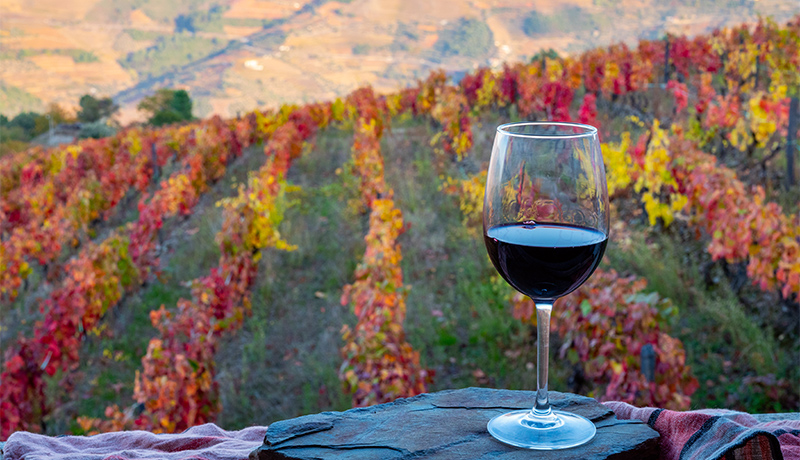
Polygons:
[[800,460],[800,420],[759,423],[724,409],[676,412],[604,403],[619,419],[646,422],[661,435],[661,460]]

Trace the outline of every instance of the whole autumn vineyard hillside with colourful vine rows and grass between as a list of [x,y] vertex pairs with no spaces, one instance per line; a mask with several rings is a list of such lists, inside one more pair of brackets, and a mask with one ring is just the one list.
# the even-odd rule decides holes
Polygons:
[[0,439],[531,388],[480,241],[519,119],[597,126],[612,198],[552,388],[798,410],[798,69],[800,18],[763,20],[3,157]]

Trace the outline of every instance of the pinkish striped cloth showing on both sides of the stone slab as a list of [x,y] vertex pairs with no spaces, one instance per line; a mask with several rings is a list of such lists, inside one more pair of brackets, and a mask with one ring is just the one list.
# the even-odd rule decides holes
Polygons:
[[[605,403],[619,419],[639,419],[661,434],[662,460],[800,460],[800,420],[759,423],[727,410],[675,412]],[[4,460],[240,460],[261,445],[267,427],[225,431],[214,424],[180,434],[124,431],[49,437],[17,432]]]

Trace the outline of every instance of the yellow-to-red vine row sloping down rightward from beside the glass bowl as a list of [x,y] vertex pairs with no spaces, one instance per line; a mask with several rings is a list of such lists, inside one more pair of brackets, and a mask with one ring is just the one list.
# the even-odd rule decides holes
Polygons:
[[746,186],[680,129],[670,134],[657,121],[636,145],[624,133],[620,143],[604,145],[603,154],[610,191],[641,193],[651,225],[658,219],[669,225],[685,213],[710,235],[714,260],[747,261],[761,289],[778,288],[786,298],[800,294],[800,218],[767,202],[762,187]]

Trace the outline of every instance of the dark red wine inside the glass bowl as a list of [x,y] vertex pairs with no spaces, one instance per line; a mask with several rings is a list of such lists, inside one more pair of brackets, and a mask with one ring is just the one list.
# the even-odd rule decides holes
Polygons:
[[608,244],[597,230],[552,223],[499,225],[483,239],[500,275],[533,300],[555,300],[577,289]]

